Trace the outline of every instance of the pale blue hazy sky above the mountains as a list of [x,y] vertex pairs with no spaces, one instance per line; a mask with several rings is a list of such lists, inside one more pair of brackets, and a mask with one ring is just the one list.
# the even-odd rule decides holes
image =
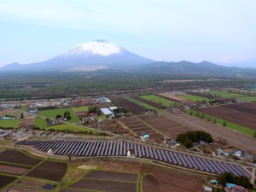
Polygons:
[[108,39],[158,61],[256,54],[255,0],[0,0],[0,66]]

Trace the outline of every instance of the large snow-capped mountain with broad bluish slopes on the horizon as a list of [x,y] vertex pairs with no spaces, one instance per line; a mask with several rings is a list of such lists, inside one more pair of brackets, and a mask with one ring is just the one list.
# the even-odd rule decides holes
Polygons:
[[73,71],[81,67],[137,66],[152,62],[154,60],[131,53],[108,40],[96,40],[87,44],[78,44],[66,53],[57,55],[47,61],[26,65],[13,63],[2,67],[0,70]]

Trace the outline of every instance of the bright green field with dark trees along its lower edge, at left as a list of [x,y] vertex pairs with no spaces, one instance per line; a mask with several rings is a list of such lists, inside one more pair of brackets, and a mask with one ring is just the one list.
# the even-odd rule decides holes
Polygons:
[[73,112],[72,108],[58,108],[58,109],[50,109],[45,111],[40,111],[38,114],[44,117],[55,119],[57,114],[61,114],[63,117],[65,111],[69,111],[71,115],[71,119],[69,120],[69,123],[78,123],[79,118],[77,115]]

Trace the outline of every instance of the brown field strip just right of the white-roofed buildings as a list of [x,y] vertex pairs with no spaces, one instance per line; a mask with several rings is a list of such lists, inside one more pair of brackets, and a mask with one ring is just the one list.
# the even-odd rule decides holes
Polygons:
[[126,108],[128,111],[131,111],[131,113],[142,114],[146,112],[146,108],[143,108],[142,106],[137,105],[134,102],[130,102],[124,97],[113,97],[113,98],[110,98],[110,100],[119,102],[119,105],[122,108]]

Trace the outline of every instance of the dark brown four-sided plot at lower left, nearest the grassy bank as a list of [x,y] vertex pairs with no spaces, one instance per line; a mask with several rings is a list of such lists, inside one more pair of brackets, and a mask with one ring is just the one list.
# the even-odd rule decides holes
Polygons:
[[45,160],[41,165],[29,172],[27,176],[61,181],[67,172],[67,163]]

